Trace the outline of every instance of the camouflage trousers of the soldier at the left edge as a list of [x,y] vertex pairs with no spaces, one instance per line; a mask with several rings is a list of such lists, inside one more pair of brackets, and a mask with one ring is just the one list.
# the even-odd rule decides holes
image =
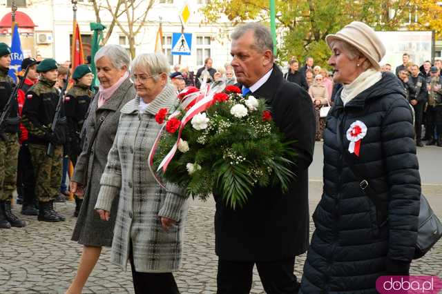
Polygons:
[[0,139],[0,200],[12,199],[17,183],[17,159],[19,157],[19,137],[4,133],[7,140]]

